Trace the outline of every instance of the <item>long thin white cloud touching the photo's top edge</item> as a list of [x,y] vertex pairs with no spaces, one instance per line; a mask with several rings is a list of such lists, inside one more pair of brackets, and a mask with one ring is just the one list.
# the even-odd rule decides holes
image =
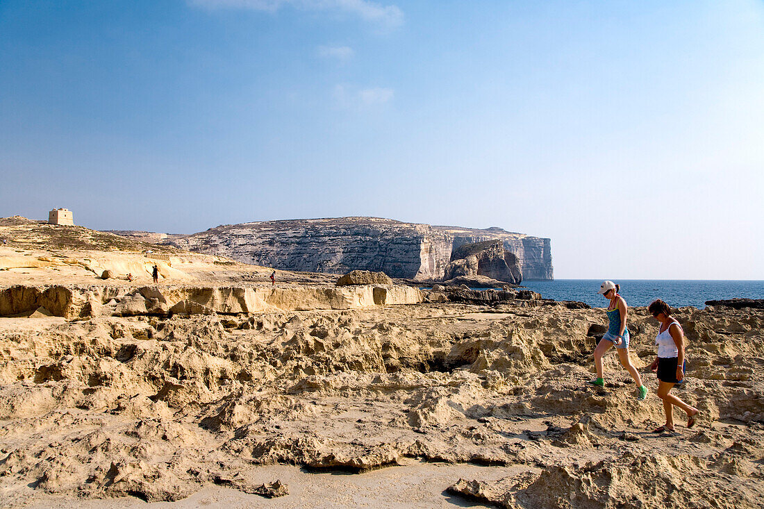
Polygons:
[[242,8],[274,12],[283,5],[306,11],[339,11],[357,15],[364,21],[396,27],[403,23],[403,11],[397,5],[380,5],[371,0],[187,0],[205,8]]

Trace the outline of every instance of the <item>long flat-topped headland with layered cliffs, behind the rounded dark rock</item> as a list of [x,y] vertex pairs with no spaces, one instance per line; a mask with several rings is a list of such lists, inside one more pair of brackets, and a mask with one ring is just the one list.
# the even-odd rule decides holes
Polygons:
[[461,245],[500,240],[517,258],[523,279],[553,279],[549,238],[500,228],[432,226],[373,217],[291,219],[221,225],[162,244],[279,269],[345,273],[382,271],[391,277],[442,279]]

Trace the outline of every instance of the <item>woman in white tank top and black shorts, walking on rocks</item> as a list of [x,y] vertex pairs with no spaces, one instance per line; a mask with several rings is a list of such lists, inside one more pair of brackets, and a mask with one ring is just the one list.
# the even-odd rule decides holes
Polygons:
[[650,369],[658,374],[658,397],[663,400],[663,411],[666,414],[666,423],[652,432],[674,431],[675,405],[685,410],[687,427],[691,428],[695,424],[699,410],[686,404],[674,394],[669,394],[674,384],[679,384],[685,379],[685,332],[682,331],[678,321],[672,318],[669,304],[660,299],[654,300],[647,310],[661,324],[656,336],[658,357],[652,361]]

